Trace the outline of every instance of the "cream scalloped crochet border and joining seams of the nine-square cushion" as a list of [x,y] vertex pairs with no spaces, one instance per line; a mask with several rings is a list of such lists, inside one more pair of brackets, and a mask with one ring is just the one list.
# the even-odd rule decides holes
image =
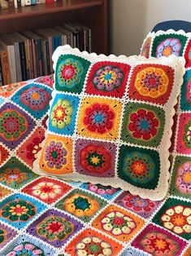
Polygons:
[[[150,200],[153,201],[159,201],[162,200],[166,195],[167,195],[167,190],[168,190],[168,180],[170,177],[169,174],[169,167],[170,167],[170,161],[168,160],[169,157],[169,151],[168,149],[171,146],[171,126],[173,124],[173,115],[175,114],[175,109],[173,108],[176,103],[177,103],[177,96],[180,94],[180,86],[183,83],[183,75],[184,75],[184,58],[183,57],[176,57],[174,55],[167,57],[162,57],[160,59],[156,58],[150,58],[146,59],[143,56],[130,56],[126,57],[124,55],[120,56],[115,56],[115,55],[109,55],[108,57],[106,55],[97,55],[95,53],[89,54],[86,51],[80,52],[78,49],[72,49],[71,46],[59,46],[56,51],[54,51],[52,60],[54,61],[54,70],[56,68],[56,63],[59,59],[60,55],[64,54],[72,54],[72,55],[77,55],[82,58],[85,58],[85,60],[89,60],[91,62],[90,68],[92,64],[98,62],[98,61],[114,61],[114,62],[119,62],[123,64],[129,64],[132,66],[131,70],[133,67],[137,66],[138,64],[162,64],[162,65],[167,65],[170,66],[175,70],[175,77],[174,77],[174,86],[172,87],[171,91],[171,96],[168,99],[167,103],[164,106],[158,105],[158,104],[152,104],[148,102],[150,105],[158,106],[161,107],[165,110],[165,117],[166,117],[166,123],[164,126],[164,133],[163,133],[163,138],[161,140],[161,143],[159,144],[158,148],[155,148],[156,151],[158,151],[159,156],[160,156],[160,162],[161,162],[161,170],[160,170],[160,176],[158,180],[158,187],[155,189],[146,189],[146,188],[137,188],[133,186],[130,183],[125,182],[124,180],[120,179],[115,175],[115,178],[99,178],[99,177],[92,177],[88,175],[82,175],[74,171],[72,174],[64,174],[64,175],[54,175],[54,174],[47,174],[44,170],[41,170],[39,167],[39,159],[41,157],[41,151],[37,153],[37,160],[34,161],[33,164],[33,171],[37,174],[45,174],[47,176],[54,176],[54,177],[59,177],[60,179],[72,179],[73,181],[83,181],[83,182],[91,182],[91,183],[102,183],[102,185],[111,185],[114,188],[122,188],[124,191],[129,191],[133,195],[139,195],[143,198],[150,198]],[[131,76],[131,73],[129,74],[129,77]],[[55,77],[55,75],[54,75]],[[85,80],[87,77],[85,78]],[[128,81],[129,83],[129,81]],[[128,87],[128,86],[127,86]],[[59,91],[59,93],[62,93]],[[64,92],[65,93],[65,92]],[[53,99],[54,95],[56,94],[56,91],[53,91]],[[66,93],[68,95],[71,95],[70,93]],[[80,95],[85,95],[83,92]],[[100,96],[102,97],[102,96]],[[106,97],[105,97],[106,98]],[[53,103],[53,99],[50,101],[50,105]],[[109,97],[109,99],[114,99]],[[128,99],[126,97],[126,99]],[[136,100],[133,100],[136,101]],[[145,101],[136,101],[140,103],[147,103]],[[50,111],[49,111],[50,115]],[[123,115],[121,116],[122,120]],[[48,121],[47,121],[48,124]],[[120,126],[121,129],[121,126]],[[51,133],[48,130],[46,130],[46,136]],[[52,134],[52,133],[51,133]],[[62,136],[62,135],[59,135]],[[69,136],[64,136],[64,137],[69,137]],[[80,138],[80,136],[77,136]],[[76,138],[76,135],[72,136],[72,138]],[[87,138],[89,139],[89,138]],[[98,140],[98,139],[95,139]],[[105,141],[105,140],[102,140]],[[42,143],[42,148],[44,147],[46,143],[46,139]],[[120,141],[116,142],[120,143]],[[125,143],[124,143],[125,144]],[[132,146],[137,147],[137,145],[131,144]],[[146,146],[138,146],[139,148],[150,148],[153,149],[152,147],[146,147]],[[73,157],[74,158],[74,157]],[[116,166],[115,166],[116,167]]]

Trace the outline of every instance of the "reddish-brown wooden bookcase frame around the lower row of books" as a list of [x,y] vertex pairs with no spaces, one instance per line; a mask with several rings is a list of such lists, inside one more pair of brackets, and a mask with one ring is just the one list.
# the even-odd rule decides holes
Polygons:
[[78,22],[92,29],[92,51],[108,54],[107,0],[58,0],[0,10],[0,34]]

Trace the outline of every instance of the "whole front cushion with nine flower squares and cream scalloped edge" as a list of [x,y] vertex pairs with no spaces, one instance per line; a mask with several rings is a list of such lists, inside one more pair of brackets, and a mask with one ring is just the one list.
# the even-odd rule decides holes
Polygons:
[[172,116],[184,59],[88,54],[60,46],[37,174],[167,193]]

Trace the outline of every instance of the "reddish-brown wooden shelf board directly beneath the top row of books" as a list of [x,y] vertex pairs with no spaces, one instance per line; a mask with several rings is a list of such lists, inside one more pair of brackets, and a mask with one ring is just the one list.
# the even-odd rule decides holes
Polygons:
[[56,12],[80,10],[89,7],[102,6],[102,0],[58,0],[54,3],[41,3],[35,6],[18,7],[0,10],[0,21],[18,19],[36,15],[47,15]]

